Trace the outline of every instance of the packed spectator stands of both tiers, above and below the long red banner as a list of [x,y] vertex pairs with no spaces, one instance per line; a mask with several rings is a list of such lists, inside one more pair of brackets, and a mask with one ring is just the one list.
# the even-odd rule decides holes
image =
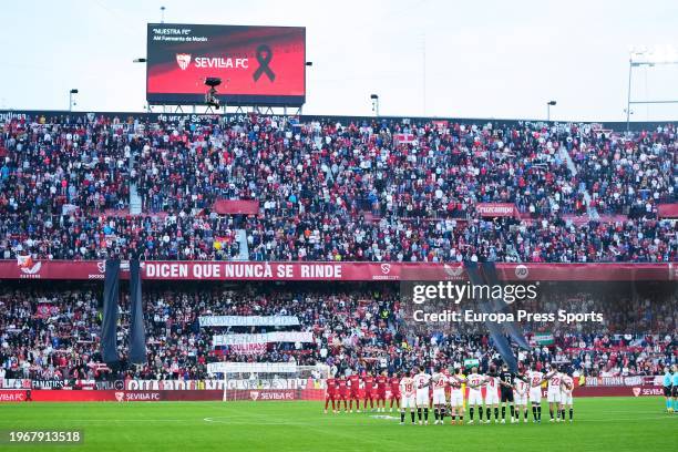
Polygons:
[[[0,381],[195,380],[219,361],[327,364],[335,374],[444,357],[477,359],[486,370],[499,359],[487,335],[409,330],[392,281],[152,281],[143,292],[147,362],[126,362],[125,296],[121,364],[111,368],[100,353],[101,285],[30,280],[62,260],[71,263],[58,279],[79,263],[111,258],[364,261],[384,275],[390,265],[421,263],[650,264],[666,266],[660,279],[675,277],[674,124],[626,133],[600,124],[254,114],[0,117],[0,278],[8,280]],[[102,268],[89,279],[103,278]],[[653,306],[671,297],[657,295]],[[219,347],[217,331],[198,321],[209,315],[294,316],[294,331],[312,340]],[[664,322],[655,325],[660,335],[553,330],[549,347],[515,352],[538,367],[572,362],[587,376],[659,374],[676,355],[675,312],[643,315]],[[271,331],[291,330],[228,330]]]

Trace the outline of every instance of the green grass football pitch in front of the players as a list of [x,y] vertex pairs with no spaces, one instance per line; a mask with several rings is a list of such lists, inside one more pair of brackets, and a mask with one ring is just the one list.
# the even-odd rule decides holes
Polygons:
[[[388,410],[387,410],[388,411]],[[431,413],[432,414],[432,413]],[[532,414],[531,414],[532,417]],[[548,411],[543,413],[548,419]],[[320,402],[124,402],[0,405],[0,430],[81,430],[73,451],[658,451],[678,446],[660,398],[575,400],[575,422],[400,425],[398,413],[323,414]]]

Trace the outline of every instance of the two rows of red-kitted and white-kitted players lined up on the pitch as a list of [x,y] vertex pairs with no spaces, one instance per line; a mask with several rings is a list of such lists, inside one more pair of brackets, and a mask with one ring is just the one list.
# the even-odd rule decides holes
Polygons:
[[[389,400],[390,411],[393,405],[400,409],[401,424],[405,422],[408,410],[411,423],[418,421],[419,424],[428,424],[431,409],[435,424],[443,424],[446,415],[451,418],[452,424],[461,424],[464,422],[466,407],[470,424],[475,422],[476,413],[479,423],[490,423],[493,415],[495,423],[506,423],[507,412],[511,423],[517,423],[521,419],[528,422],[530,408],[532,421],[540,423],[544,382],[547,383],[546,402],[551,422],[565,421],[567,411],[572,422],[574,380],[572,374],[559,371],[555,364],[546,373],[536,368],[514,373],[504,364],[500,370],[491,366],[486,374],[479,373],[475,367],[468,374],[463,373],[461,367],[454,373],[436,367],[429,374],[420,367],[390,378],[386,372],[377,377],[367,373],[362,378],[358,374],[330,378],[327,380],[325,412],[330,403],[335,413],[341,411],[342,402],[345,412],[353,411],[353,402],[356,411],[360,412],[361,399],[363,410],[367,410],[369,401],[373,411],[376,401],[376,410],[384,412]],[[468,399],[464,398],[466,389]]]

